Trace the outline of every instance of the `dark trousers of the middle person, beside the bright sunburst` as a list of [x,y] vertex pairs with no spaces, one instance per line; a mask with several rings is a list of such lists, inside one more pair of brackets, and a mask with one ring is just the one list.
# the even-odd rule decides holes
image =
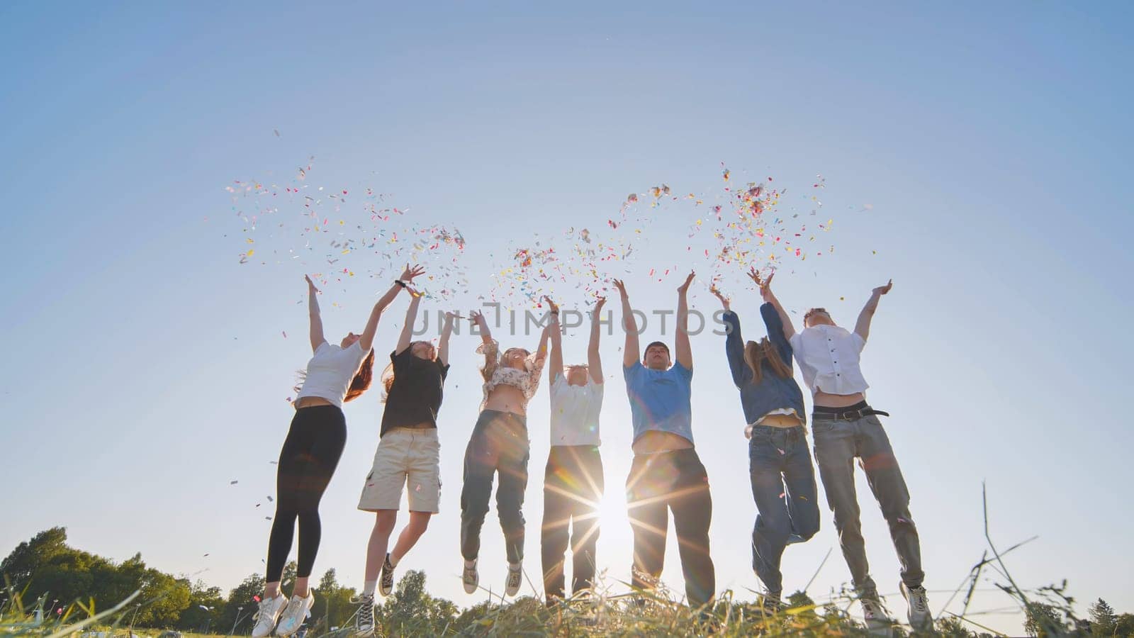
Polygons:
[[568,542],[572,591],[578,594],[593,586],[602,488],[602,457],[598,446],[551,446],[543,472],[543,534],[540,539],[548,603],[564,597],[564,554]]

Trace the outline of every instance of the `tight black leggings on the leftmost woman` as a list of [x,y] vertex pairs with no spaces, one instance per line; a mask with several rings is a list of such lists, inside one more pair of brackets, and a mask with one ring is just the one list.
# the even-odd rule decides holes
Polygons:
[[347,421],[342,410],[333,405],[296,410],[280,450],[276,473],[276,521],[268,539],[268,582],[279,582],[284,576],[296,519],[299,520],[299,569],[296,576],[311,576],[322,536],[319,501],[331,481],[346,443]]

